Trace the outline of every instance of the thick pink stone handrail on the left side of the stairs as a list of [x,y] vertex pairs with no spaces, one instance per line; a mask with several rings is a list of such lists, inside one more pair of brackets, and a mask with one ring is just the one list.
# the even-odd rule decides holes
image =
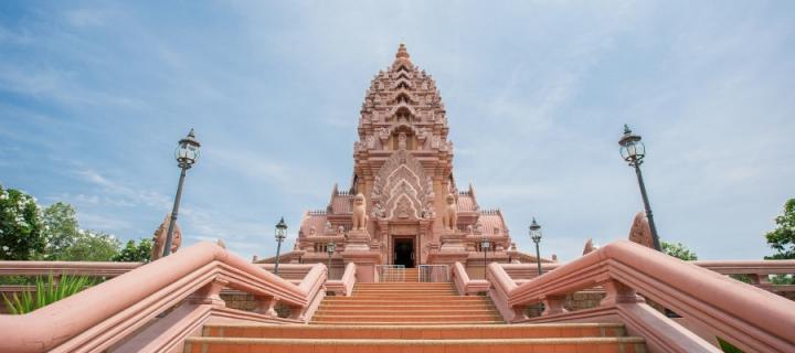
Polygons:
[[0,315],[0,351],[103,351],[184,299],[223,306],[223,287],[252,293],[271,308],[284,302],[294,318],[306,319],[322,298],[325,280],[319,265],[295,286],[203,242],[33,312]]

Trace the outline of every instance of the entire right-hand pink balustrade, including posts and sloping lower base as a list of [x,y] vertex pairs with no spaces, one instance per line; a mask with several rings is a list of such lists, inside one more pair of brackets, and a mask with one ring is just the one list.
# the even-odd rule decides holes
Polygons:
[[[527,306],[543,302],[543,317],[532,321],[613,315],[646,336],[653,351],[714,351],[650,309],[639,292],[746,352],[795,352],[794,302],[626,240],[520,286],[498,264],[489,265],[487,278],[491,298],[508,321],[523,321]],[[601,307],[572,313],[563,309],[566,295],[596,286],[607,295]]]

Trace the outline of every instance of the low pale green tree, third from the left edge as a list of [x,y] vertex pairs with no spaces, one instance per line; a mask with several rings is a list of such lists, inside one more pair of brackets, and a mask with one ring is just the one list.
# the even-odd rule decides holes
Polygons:
[[57,255],[64,261],[110,261],[118,254],[120,242],[107,233],[78,231],[73,243]]

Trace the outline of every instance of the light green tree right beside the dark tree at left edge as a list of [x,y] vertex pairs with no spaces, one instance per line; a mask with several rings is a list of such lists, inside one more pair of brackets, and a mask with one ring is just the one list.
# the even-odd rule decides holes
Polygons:
[[46,238],[45,259],[61,259],[63,253],[80,238],[77,216],[72,205],[57,202],[42,211],[42,228]]

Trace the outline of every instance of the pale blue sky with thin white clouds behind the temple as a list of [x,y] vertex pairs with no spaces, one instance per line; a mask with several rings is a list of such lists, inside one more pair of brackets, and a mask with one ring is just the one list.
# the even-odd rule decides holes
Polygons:
[[347,188],[370,79],[404,41],[446,104],[458,184],[542,255],[626,238],[642,133],[660,236],[761,258],[795,197],[791,1],[3,1],[0,183],[83,227],[150,236],[195,128],[186,244],[273,255]]

